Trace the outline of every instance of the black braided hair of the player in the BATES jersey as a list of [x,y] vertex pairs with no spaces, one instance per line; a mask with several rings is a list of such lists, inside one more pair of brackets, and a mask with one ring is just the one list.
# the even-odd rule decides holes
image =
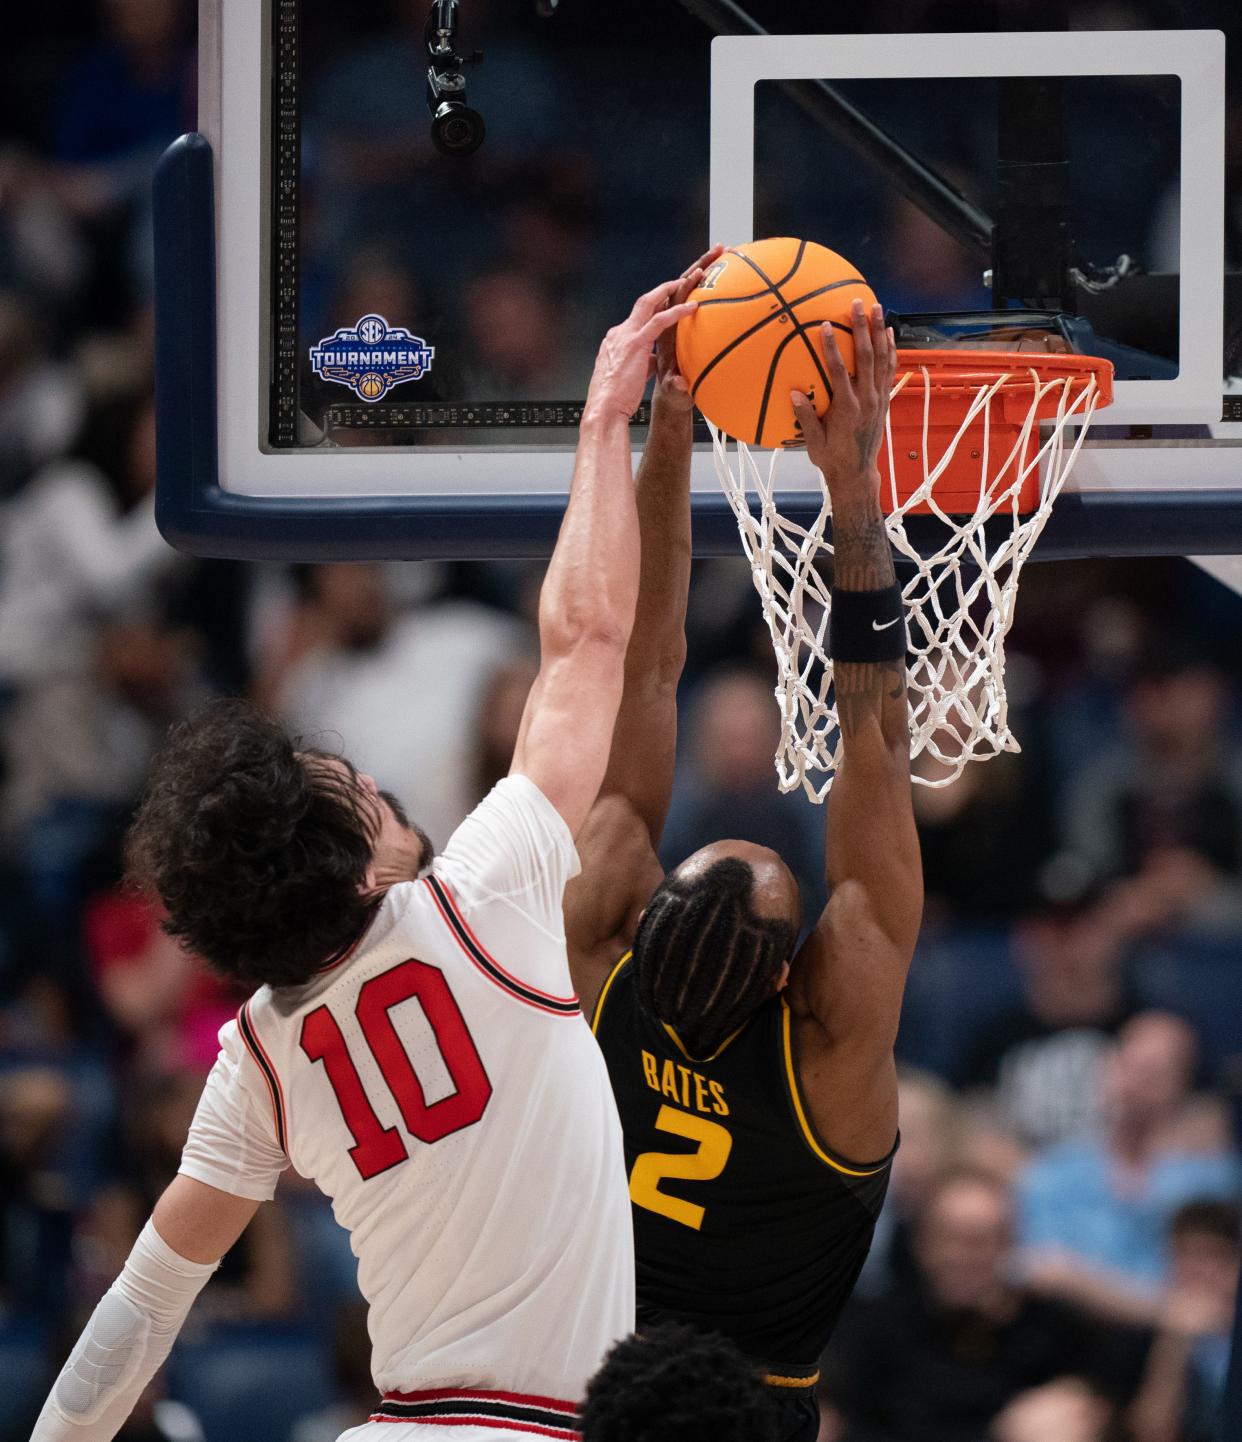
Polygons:
[[633,942],[638,995],[691,1057],[707,1058],[773,995],[793,927],[752,910],[754,872],[727,857],[692,881],[666,877]]

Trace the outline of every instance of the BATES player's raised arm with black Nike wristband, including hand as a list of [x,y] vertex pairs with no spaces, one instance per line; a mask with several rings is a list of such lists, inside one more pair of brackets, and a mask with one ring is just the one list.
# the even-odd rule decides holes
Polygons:
[[[923,878],[910,802],[904,623],[880,509],[877,454],[896,369],[878,306],[853,314],[855,379],[825,326],[832,405],[795,395],[832,502],[832,676],[842,761],[828,805],[829,901],[795,959],[789,998],[809,1031],[802,1080],[825,1141],[874,1159],[893,1145],[893,1043]],[[805,1027],[809,1021],[812,1025]]]

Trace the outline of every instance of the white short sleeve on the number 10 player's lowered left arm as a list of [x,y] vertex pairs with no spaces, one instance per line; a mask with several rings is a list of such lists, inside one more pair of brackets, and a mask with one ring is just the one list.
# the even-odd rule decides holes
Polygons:
[[274,1099],[235,1021],[219,1030],[219,1056],[199,1097],[182,1152],[185,1177],[271,1201],[289,1158],[276,1138]]

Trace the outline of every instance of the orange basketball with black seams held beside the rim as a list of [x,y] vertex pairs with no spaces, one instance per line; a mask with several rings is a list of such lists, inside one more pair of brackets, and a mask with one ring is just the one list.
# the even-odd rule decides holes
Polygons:
[[876,304],[842,255],[776,236],[724,252],[691,296],[698,310],[677,327],[677,363],[703,414],[749,446],[801,446],[789,402],[803,391],[822,415],[832,399],[824,368],[827,320],[854,373],[850,307]]

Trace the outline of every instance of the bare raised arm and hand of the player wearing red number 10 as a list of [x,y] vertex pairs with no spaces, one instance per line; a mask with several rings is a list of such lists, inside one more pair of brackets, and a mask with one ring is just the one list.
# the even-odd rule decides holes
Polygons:
[[669,304],[682,284],[668,281],[639,297],[629,319],[604,336],[539,596],[539,673],[512,769],[539,787],[574,835],[604,779],[638,601],[629,418],[651,375],[652,346],[694,309]]

